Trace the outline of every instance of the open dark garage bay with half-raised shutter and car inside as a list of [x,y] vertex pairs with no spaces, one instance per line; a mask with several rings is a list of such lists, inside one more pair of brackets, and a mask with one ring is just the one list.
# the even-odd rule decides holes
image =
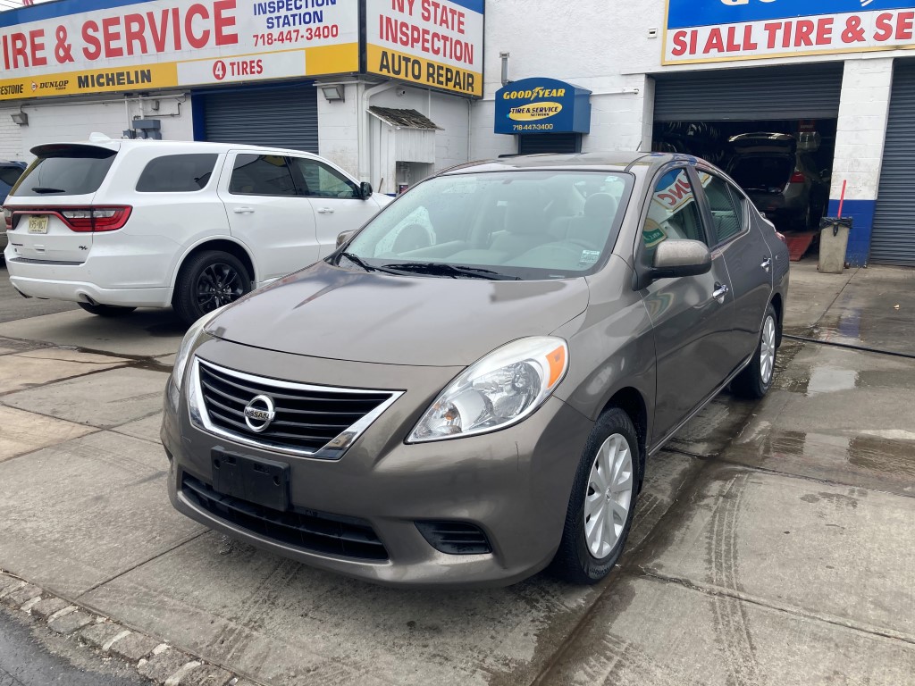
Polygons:
[[655,75],[652,149],[725,169],[810,245],[829,201],[841,63]]

